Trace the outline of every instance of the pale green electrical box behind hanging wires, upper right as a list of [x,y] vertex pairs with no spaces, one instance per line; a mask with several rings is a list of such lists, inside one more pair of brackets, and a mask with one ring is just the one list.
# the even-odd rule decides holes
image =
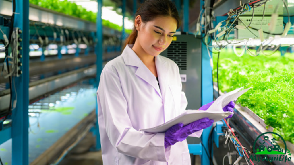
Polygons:
[[[243,23],[245,23],[245,26],[247,26],[251,20],[251,16],[240,16],[239,18],[241,21],[243,21]],[[262,16],[256,16],[256,17],[254,16],[252,19],[252,22],[250,24],[250,27],[252,27],[252,28],[248,27],[247,29],[237,29],[235,31],[235,38],[238,38],[238,39],[259,38],[258,30],[260,28],[263,29],[264,38],[268,38],[269,35],[266,32],[269,32],[270,20],[271,20],[271,16],[265,16],[263,18],[263,21],[262,21]],[[241,21],[238,20],[238,25],[244,26],[243,23],[241,23]],[[261,25],[261,22],[262,22],[262,25]],[[248,29],[254,34],[252,34]],[[273,34],[270,36],[282,34],[283,30],[284,30],[283,29],[283,17],[280,16],[277,19],[277,22],[275,25],[275,30],[273,31]]]

